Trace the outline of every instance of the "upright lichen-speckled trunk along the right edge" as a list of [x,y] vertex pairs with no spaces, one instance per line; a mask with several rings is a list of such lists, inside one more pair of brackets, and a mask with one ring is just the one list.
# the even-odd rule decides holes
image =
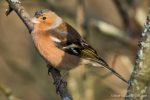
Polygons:
[[150,85],[150,9],[141,34],[139,50],[136,55],[134,69],[130,78],[130,85],[125,100],[148,99]]

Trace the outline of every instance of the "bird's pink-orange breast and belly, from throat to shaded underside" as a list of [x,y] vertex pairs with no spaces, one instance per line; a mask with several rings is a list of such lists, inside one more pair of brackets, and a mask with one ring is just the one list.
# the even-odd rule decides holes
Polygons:
[[72,69],[80,63],[78,57],[57,48],[49,33],[33,32],[32,37],[40,55],[52,66],[58,69]]

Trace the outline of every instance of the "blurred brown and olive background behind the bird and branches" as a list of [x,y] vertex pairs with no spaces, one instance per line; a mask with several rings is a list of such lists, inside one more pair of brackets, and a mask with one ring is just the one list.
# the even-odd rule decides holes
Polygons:
[[[45,8],[57,12],[113,69],[129,79],[149,0],[21,2],[31,16]],[[19,100],[59,100],[27,28],[16,13],[5,16],[7,6],[0,0],[0,100],[8,100],[9,94]],[[109,71],[91,66],[73,69],[65,79],[74,100],[123,100],[128,87]]]

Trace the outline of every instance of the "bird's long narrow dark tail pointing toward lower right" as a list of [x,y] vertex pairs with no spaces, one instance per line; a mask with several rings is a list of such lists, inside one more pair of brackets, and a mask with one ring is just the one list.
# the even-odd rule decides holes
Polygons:
[[100,64],[102,67],[106,68],[107,70],[111,71],[114,75],[116,75],[118,78],[120,78],[125,83],[129,84],[127,80],[125,80],[119,73],[117,73],[114,69],[112,69],[103,59],[99,58],[98,61],[96,61],[98,64]]

